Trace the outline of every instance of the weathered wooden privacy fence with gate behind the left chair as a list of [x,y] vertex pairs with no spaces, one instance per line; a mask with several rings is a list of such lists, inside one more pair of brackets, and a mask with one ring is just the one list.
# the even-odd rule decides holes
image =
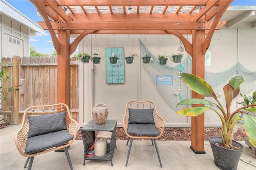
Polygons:
[[[2,63],[9,66],[7,69],[12,77],[5,86],[13,86],[8,101],[2,102],[1,115],[7,115],[8,122],[20,124],[24,111],[30,106],[56,104],[57,57],[3,57]],[[70,58],[70,81],[70,113],[79,122],[78,61],[75,57]]]

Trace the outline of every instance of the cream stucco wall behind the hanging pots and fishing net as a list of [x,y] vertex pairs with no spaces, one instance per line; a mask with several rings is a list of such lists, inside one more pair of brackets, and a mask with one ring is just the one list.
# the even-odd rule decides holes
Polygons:
[[[97,43],[95,41],[97,40]],[[130,42],[129,42],[130,38]],[[186,36],[191,42],[191,36]],[[92,119],[91,109],[96,103],[105,103],[109,109],[108,119],[117,119],[118,126],[122,126],[125,104],[129,100],[151,100],[156,104],[158,113],[165,119],[166,127],[191,127],[190,118],[176,115],[158,93],[158,90],[148,72],[144,69],[140,56],[138,39],[145,43],[144,35],[88,35],[79,44],[80,52],[90,54],[97,52],[101,61],[99,65],[79,63],[79,112],[80,126]],[[113,41],[114,40],[114,41]],[[146,35],[146,47],[155,55],[162,53],[169,56],[176,53],[178,38],[173,35]],[[238,61],[251,71],[256,71],[256,31],[254,29],[221,29],[212,37],[209,50],[211,51],[211,67],[206,71],[220,72],[229,69]],[[125,57],[137,53],[133,64],[125,63],[125,83],[106,83],[106,47],[124,47]],[[184,57],[188,54],[184,52]],[[168,60],[168,65],[177,65]],[[231,77],[230,77],[231,78]],[[254,85],[256,86],[256,85]],[[170,97],[174,97],[172,92]],[[241,100],[239,97],[236,101]],[[236,102],[235,101],[235,102]],[[237,107],[234,102],[233,108]],[[205,127],[218,127],[220,120],[214,113],[205,113]]]

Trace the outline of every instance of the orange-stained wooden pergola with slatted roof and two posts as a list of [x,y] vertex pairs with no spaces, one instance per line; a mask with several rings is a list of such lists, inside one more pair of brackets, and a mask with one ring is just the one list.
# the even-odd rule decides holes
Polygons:
[[[30,0],[58,53],[57,103],[70,103],[70,55],[88,34],[173,34],[192,56],[192,73],[204,79],[204,54],[233,0]],[[129,14],[130,13],[130,14]],[[56,36],[58,34],[58,36]],[[70,43],[70,36],[77,37]],[[191,34],[192,43],[183,35]],[[192,91],[192,98],[204,97]],[[192,117],[190,148],[204,152],[204,115]]]

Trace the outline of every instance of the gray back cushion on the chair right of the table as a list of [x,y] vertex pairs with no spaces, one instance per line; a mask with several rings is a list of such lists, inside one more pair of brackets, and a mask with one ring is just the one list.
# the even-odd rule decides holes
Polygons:
[[129,122],[138,124],[154,124],[154,109],[129,109]]

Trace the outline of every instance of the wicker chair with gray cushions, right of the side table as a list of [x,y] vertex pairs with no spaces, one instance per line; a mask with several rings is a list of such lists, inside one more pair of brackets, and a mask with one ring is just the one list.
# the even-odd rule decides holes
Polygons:
[[131,139],[125,166],[128,163],[133,139],[149,138],[152,145],[155,144],[158,160],[162,167],[156,138],[159,138],[164,132],[164,119],[158,115],[155,104],[152,101],[128,101],[123,117],[123,127],[128,136],[126,145]]

